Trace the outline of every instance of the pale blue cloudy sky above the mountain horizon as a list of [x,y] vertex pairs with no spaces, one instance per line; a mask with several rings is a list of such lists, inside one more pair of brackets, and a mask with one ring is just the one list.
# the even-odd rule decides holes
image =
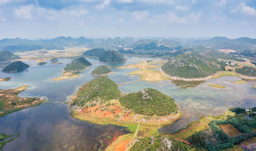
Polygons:
[[0,0],[0,39],[256,38],[256,0]]

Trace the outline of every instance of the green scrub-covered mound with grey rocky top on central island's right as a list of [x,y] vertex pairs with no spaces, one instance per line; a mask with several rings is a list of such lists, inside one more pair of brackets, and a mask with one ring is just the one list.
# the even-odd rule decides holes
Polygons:
[[162,116],[178,110],[170,96],[151,88],[127,94],[121,97],[119,101],[124,107],[133,109],[135,113],[142,115]]

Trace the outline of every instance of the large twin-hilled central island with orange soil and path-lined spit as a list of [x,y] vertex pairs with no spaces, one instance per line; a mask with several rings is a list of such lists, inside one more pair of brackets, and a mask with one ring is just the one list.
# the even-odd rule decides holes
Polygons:
[[151,137],[159,128],[181,118],[174,100],[155,89],[122,95],[115,82],[100,76],[81,86],[69,100],[73,117],[100,125],[125,126],[131,132],[118,137],[106,150],[113,151],[120,144],[127,146],[137,137]]

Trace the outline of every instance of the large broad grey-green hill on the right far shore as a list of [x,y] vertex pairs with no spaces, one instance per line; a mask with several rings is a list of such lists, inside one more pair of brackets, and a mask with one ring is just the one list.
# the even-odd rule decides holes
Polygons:
[[181,78],[203,78],[215,74],[220,70],[218,65],[214,64],[213,57],[199,53],[194,54],[190,51],[168,60],[161,69],[168,76]]

